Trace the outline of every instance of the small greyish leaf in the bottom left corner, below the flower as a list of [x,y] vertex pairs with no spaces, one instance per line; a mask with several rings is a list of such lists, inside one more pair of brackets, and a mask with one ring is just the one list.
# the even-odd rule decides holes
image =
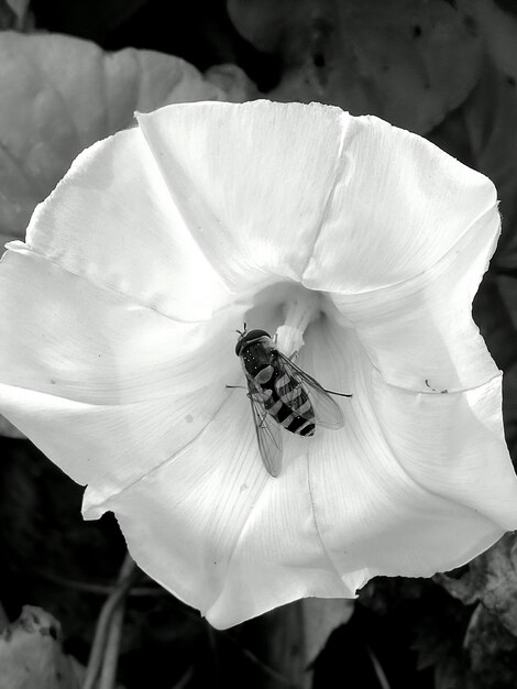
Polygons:
[[0,635],[0,689],[80,689],[78,664],[63,653],[61,625],[41,608],[24,605]]

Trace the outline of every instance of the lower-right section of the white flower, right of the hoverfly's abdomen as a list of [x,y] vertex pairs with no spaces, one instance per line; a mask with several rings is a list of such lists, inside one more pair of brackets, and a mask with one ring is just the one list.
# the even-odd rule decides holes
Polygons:
[[517,526],[517,482],[504,442],[501,379],[466,392],[388,385],[353,330],[309,333],[307,365],[346,381],[345,428],[311,445],[315,517],[344,581],[430,576],[469,561]]

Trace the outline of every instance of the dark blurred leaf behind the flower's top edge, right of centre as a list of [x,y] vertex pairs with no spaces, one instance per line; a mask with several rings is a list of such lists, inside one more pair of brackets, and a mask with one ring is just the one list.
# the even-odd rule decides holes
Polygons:
[[481,45],[444,0],[228,0],[238,31],[278,54],[277,100],[319,100],[418,133],[439,124],[479,77]]

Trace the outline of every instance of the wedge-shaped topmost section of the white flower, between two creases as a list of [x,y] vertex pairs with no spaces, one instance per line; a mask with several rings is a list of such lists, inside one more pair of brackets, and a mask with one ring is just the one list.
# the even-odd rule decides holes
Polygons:
[[298,278],[338,172],[348,116],[265,100],[182,105],[139,123],[177,208],[229,284]]

